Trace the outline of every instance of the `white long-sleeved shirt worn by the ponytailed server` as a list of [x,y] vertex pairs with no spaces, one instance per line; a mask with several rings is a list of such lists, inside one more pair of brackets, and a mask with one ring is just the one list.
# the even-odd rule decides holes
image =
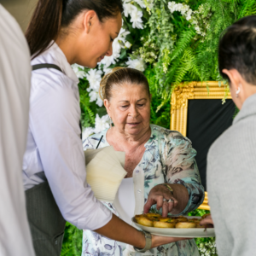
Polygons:
[[97,201],[85,183],[84,149],[80,139],[79,79],[57,44],[32,60],[53,68],[32,72],[29,129],[23,160],[25,189],[45,177],[62,216],[79,229],[96,230],[112,213]]

